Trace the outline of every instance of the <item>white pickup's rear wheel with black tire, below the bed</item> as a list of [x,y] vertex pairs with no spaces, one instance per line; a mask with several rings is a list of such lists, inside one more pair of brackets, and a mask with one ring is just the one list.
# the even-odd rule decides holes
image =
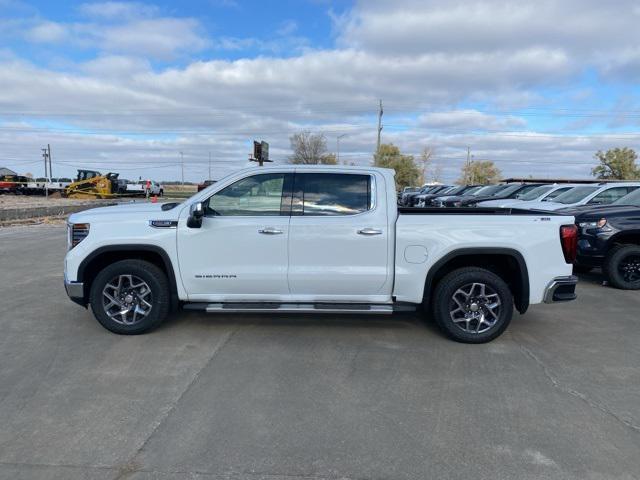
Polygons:
[[[484,285],[484,290],[479,285]],[[461,302],[466,293],[458,292],[466,292],[469,286],[470,297]],[[484,298],[482,291],[487,295]],[[496,300],[499,300],[497,306]],[[490,342],[505,331],[513,316],[509,286],[493,272],[478,267],[460,268],[447,274],[436,285],[431,303],[436,324],[449,338],[462,343]],[[494,307],[489,308],[491,305]],[[473,318],[467,321],[466,315]],[[461,318],[454,322],[452,316]],[[476,328],[477,331],[473,331]]]

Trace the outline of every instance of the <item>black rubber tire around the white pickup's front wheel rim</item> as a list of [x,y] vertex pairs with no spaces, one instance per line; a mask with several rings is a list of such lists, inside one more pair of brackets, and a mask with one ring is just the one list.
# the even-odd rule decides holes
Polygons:
[[[113,284],[113,281],[121,275],[132,276],[134,279],[143,281],[145,286],[141,287],[142,294],[150,291],[150,296],[147,297],[150,298],[151,305],[148,314],[138,321],[135,321],[134,316],[132,324],[123,324],[122,319],[114,320],[105,309],[106,300],[103,296],[105,287]],[[160,325],[169,312],[171,302],[169,281],[164,272],[152,263],[143,260],[120,260],[98,273],[91,285],[89,302],[96,320],[107,330],[121,335],[146,333]],[[135,299],[132,303],[135,304]],[[114,305],[112,308],[117,309],[118,306]]]

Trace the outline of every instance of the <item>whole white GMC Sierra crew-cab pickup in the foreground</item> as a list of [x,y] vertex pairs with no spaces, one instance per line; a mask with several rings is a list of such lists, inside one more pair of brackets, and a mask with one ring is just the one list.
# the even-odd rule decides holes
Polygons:
[[500,335],[530,304],[575,298],[574,218],[402,209],[393,170],[273,166],[183,203],[73,214],[65,287],[112,332],[178,306],[206,312],[384,314],[427,309],[451,338]]

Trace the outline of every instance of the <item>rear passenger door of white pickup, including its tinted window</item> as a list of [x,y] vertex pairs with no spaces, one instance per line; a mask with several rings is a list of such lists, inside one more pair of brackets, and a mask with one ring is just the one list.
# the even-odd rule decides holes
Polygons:
[[374,173],[296,173],[289,290],[296,300],[383,301],[390,295],[384,179]]

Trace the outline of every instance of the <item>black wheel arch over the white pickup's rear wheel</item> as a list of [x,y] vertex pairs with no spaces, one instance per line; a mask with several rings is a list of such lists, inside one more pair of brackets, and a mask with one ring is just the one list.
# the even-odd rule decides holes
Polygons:
[[462,248],[449,252],[429,269],[423,300],[431,298],[440,279],[462,267],[480,267],[495,273],[509,285],[518,312],[525,313],[529,308],[529,270],[522,254],[512,248]]

